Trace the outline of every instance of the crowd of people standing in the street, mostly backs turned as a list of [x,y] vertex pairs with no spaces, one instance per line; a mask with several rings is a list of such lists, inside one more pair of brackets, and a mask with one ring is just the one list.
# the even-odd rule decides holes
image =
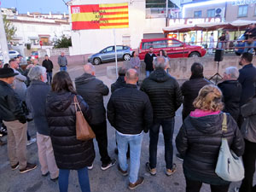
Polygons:
[[[119,78],[111,84],[107,110],[103,96],[109,89],[96,79],[95,67],[87,63],[84,73],[73,82],[67,71],[67,58],[58,59],[60,72],[52,77],[52,62],[45,55],[43,67],[37,62],[26,67],[26,76],[19,70],[17,59],[9,67],[0,68],[0,115],[8,131],[8,155],[12,170],[32,171],[37,164],[26,158],[27,121],[34,120],[37,129],[38,160],[43,177],[58,180],[61,192],[68,190],[70,170],[76,170],[80,188],[90,191],[88,169],[93,169],[95,149],[93,140],[76,137],[76,105],[84,114],[101,155],[102,171],[113,167],[117,160],[108,154],[107,119],[115,129],[117,170],[129,175],[129,189],[144,183],[139,176],[143,137],[149,132],[148,162],[150,175],[157,174],[157,149],[160,127],[165,143],[165,174],[177,172],[173,162],[173,132],[175,113],[183,104],[183,125],[175,139],[178,154],[183,160],[187,192],[199,192],[202,183],[210,184],[212,192],[227,192],[230,182],[215,172],[222,137],[242,160],[245,177],[239,192],[256,191],[253,174],[256,160],[256,68],[253,55],[244,53],[241,69],[225,69],[224,81],[218,86],[204,78],[201,63],[191,67],[191,77],[180,87],[167,73],[166,53],[154,55],[153,48],[145,56],[147,78],[138,89],[140,62],[137,53],[131,57],[131,68],[119,69]],[[24,70],[23,69],[23,70]],[[23,72],[24,74],[24,72]],[[27,87],[28,86],[28,87]],[[77,99],[77,102],[75,102]],[[76,104],[77,103],[77,104]],[[107,116],[106,116],[107,112]],[[223,133],[224,116],[227,131]],[[128,152],[129,151],[129,152]],[[127,155],[127,152],[129,153]],[[130,158],[130,168],[128,165]]]

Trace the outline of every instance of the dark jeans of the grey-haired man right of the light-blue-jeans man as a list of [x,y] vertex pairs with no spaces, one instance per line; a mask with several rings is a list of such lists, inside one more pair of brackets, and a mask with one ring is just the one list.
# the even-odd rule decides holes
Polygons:
[[166,168],[172,169],[172,137],[174,130],[175,119],[154,119],[153,125],[149,129],[149,166],[153,169],[156,167],[157,161],[157,143],[160,131],[160,125],[163,129],[164,140],[165,140],[165,160]]

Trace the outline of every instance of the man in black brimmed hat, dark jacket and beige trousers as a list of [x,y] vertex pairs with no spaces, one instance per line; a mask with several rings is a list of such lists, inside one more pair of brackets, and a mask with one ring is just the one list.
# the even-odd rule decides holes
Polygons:
[[8,131],[8,154],[12,170],[20,167],[20,173],[29,172],[37,165],[26,161],[26,115],[20,97],[10,86],[14,83],[15,71],[0,69],[0,115]]

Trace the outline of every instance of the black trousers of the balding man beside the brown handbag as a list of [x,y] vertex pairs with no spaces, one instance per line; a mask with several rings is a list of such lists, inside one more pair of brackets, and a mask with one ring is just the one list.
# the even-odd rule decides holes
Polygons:
[[111,159],[108,156],[108,134],[107,134],[107,121],[105,120],[101,124],[90,125],[92,131],[96,135],[96,141],[101,154],[102,164],[108,164]]

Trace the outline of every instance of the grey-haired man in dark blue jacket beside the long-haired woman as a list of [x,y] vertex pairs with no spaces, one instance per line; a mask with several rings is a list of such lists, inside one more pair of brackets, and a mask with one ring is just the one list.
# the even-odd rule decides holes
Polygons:
[[35,126],[37,128],[38,159],[41,164],[42,176],[50,175],[55,181],[59,177],[59,170],[55,163],[55,155],[49,137],[49,126],[45,114],[46,96],[50,87],[47,81],[46,69],[44,67],[32,67],[28,73],[32,81],[26,90],[26,104],[32,112]]

